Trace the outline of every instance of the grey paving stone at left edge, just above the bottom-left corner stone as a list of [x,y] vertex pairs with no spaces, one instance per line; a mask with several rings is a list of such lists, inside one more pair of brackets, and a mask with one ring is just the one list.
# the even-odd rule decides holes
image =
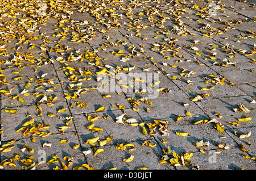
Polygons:
[[[71,113],[68,110],[68,106],[65,102],[55,103],[53,106],[48,107],[47,104],[41,104],[42,108],[42,116],[40,117],[40,111],[37,111],[38,108],[36,106],[23,106],[17,108],[5,108],[1,111],[1,128],[5,130],[5,132],[1,136],[2,141],[7,140],[18,140],[21,138],[29,138],[32,132],[28,132],[28,135],[24,136],[23,133],[26,130],[16,132],[18,129],[22,128],[22,125],[26,123],[26,121],[34,119],[35,127],[38,124],[42,124],[43,121],[49,125],[48,129],[39,129],[40,132],[51,132],[51,133],[60,133],[59,127],[65,126],[65,123],[68,121],[65,117],[71,116]],[[57,112],[63,108],[67,108],[65,112]],[[5,110],[18,110],[17,113],[11,115]],[[55,115],[53,117],[48,116],[49,113]],[[46,127],[46,125],[44,125]],[[68,125],[68,129],[64,129],[64,132],[75,131],[75,127],[71,121]],[[29,129],[32,127],[28,127]]]

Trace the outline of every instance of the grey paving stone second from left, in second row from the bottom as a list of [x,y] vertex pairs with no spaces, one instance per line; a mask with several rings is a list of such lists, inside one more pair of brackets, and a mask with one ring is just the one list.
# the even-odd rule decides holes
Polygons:
[[[79,134],[79,137],[81,138],[81,142],[83,143],[82,146],[85,148],[92,147],[89,144],[85,145],[86,140],[99,137],[100,140],[104,140],[107,137],[113,136],[113,141],[107,142],[106,145],[112,145],[117,144],[119,142],[131,142],[131,141],[138,141],[138,140],[147,140],[149,135],[143,135],[142,127],[140,126],[131,126],[128,123],[124,122],[125,125],[116,123],[116,117],[121,116],[126,113],[124,118],[130,119],[134,118],[138,121],[138,123],[142,123],[143,120],[138,115],[137,112],[131,110],[131,109],[125,109],[123,111],[121,110],[114,110],[114,111],[104,111],[104,112],[94,112],[94,113],[87,113],[87,116],[93,116],[97,115],[100,116],[100,119],[97,119],[95,121],[89,121],[88,117],[85,116],[85,114],[82,115],[74,115],[73,121],[77,128],[77,133]],[[104,116],[107,116],[107,119],[104,119]],[[96,128],[102,128],[103,131],[101,132],[92,132],[89,131],[86,127],[89,125],[95,124],[94,127]],[[119,130],[117,132],[117,130]],[[95,143],[97,146],[100,146],[98,143]]]

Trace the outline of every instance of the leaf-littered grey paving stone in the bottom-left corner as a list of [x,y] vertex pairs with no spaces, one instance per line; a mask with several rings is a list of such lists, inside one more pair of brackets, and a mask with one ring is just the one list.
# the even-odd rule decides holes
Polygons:
[[[36,137],[35,142],[31,142],[30,138],[24,138],[21,140],[16,140],[14,142],[14,148],[11,150],[11,152],[7,153],[1,153],[1,161],[4,159],[7,159],[7,161],[10,161],[11,158],[13,158],[15,155],[20,155],[20,159],[17,161],[14,161],[14,164],[16,167],[13,166],[7,166],[5,167],[6,170],[21,170],[22,167],[28,167],[29,165],[24,165],[20,160],[28,159],[28,157],[34,157],[32,160],[32,163],[40,163],[39,165],[35,165],[36,170],[52,170],[55,169],[56,166],[58,166],[60,169],[63,169],[63,166],[61,162],[63,162],[66,166],[68,165],[68,160],[64,160],[63,158],[68,156],[69,158],[73,159],[73,162],[71,166],[68,167],[69,170],[73,169],[75,166],[79,166],[82,164],[86,164],[84,154],[81,152],[81,147],[74,150],[72,149],[73,145],[79,145],[79,140],[75,136],[74,132],[64,133],[64,134],[52,134],[50,136],[41,138]],[[60,141],[68,139],[69,141],[65,144],[61,144]],[[51,144],[51,148],[48,148],[47,146],[43,145]],[[2,142],[2,144],[6,144],[6,142]],[[21,149],[24,148],[24,145],[27,144],[27,146],[32,149],[33,151],[21,151]],[[56,159],[56,163],[52,164],[46,164],[51,159],[53,159],[53,156],[59,157]]]

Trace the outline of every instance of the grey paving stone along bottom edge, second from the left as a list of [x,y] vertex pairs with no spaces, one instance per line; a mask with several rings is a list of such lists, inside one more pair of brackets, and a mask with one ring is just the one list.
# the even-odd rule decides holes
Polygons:
[[[104,149],[102,153],[98,153],[96,156],[93,154],[86,155],[86,161],[94,169],[112,169],[117,167],[118,170],[134,170],[139,167],[147,167],[150,170],[163,169],[163,166],[158,162],[158,154],[162,154],[157,142],[150,140],[153,144],[156,144],[156,147],[150,148],[142,146],[143,141],[130,142],[135,146],[135,150],[129,152],[128,150],[117,150],[116,145],[102,146],[101,149]],[[95,147],[98,149],[99,147]],[[112,154],[112,153],[115,154]],[[92,153],[94,150],[92,149]],[[131,155],[134,156],[133,161],[125,163],[123,159],[129,158]],[[169,169],[169,168],[168,168]],[[172,169],[174,169],[172,167]]]

